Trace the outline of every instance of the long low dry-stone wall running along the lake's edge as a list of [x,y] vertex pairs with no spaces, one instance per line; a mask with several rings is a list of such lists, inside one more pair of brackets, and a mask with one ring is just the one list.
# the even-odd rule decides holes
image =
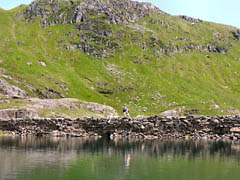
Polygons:
[[0,120],[0,129],[17,135],[34,136],[240,139],[240,116],[17,118]]

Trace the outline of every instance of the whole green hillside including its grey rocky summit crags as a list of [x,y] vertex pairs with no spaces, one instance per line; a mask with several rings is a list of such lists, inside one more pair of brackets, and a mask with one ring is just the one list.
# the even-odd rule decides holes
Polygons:
[[126,104],[133,115],[240,109],[236,28],[127,0],[37,0],[0,10],[0,29],[2,71],[33,97],[45,92],[118,111]]

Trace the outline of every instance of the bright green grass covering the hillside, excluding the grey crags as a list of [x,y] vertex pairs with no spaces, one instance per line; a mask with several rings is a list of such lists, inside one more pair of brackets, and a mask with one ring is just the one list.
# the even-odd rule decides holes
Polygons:
[[[0,59],[3,60],[0,66],[19,80],[28,92],[26,84],[42,90],[46,86],[66,97],[113,106],[118,112],[126,104],[133,116],[159,115],[176,108],[199,109],[205,115],[228,114],[229,109],[240,109],[240,61],[236,61],[240,58],[240,41],[233,39],[232,27],[208,22],[193,26],[168,15],[142,19],[136,23],[145,29],[142,32],[127,25],[109,25],[114,34],[110,40],[114,39],[122,50],[116,51],[113,58],[96,59],[78,49],[63,47],[63,44],[81,40],[74,24],[43,28],[39,19],[26,22],[16,17],[24,8],[0,10]],[[103,21],[101,17],[99,19]],[[151,24],[151,19],[160,19],[169,27]],[[66,36],[73,31],[72,37]],[[122,40],[117,37],[120,31],[125,33]],[[143,50],[143,43],[152,44],[151,37],[160,45]],[[176,37],[189,40],[173,40]],[[196,49],[169,52],[168,55],[153,52],[162,47],[184,48],[190,44],[204,46],[210,43],[228,48],[228,53],[200,53]],[[97,44],[96,47],[105,46]],[[41,66],[39,61],[44,61],[47,66]],[[32,65],[28,66],[27,62]],[[109,71],[109,66],[114,66],[117,73]],[[61,89],[59,83],[69,90]],[[113,93],[101,94],[101,90]],[[220,109],[213,109],[215,104]]]

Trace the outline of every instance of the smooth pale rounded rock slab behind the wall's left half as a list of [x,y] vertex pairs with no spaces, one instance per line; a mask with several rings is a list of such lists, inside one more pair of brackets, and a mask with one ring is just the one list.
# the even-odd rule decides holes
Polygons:
[[[102,105],[93,102],[86,102],[79,99],[74,98],[61,98],[61,99],[39,99],[39,98],[29,98],[25,99],[23,105],[19,105],[19,109],[4,109],[0,110],[0,119],[9,120],[15,118],[36,118],[38,117],[38,113],[42,111],[49,110],[49,114],[47,116],[55,117],[54,114],[55,110],[59,111],[58,109],[66,111],[72,111],[74,113],[78,113],[78,117],[116,117],[118,116],[117,111],[107,105]],[[1,102],[0,102],[1,103]],[[3,101],[2,103],[6,103]],[[52,112],[52,114],[51,114]],[[22,116],[19,116],[22,114]],[[40,113],[41,115],[41,113]],[[65,114],[64,112],[58,112],[57,116],[61,117],[69,117],[70,115]],[[76,116],[74,116],[76,117]]]

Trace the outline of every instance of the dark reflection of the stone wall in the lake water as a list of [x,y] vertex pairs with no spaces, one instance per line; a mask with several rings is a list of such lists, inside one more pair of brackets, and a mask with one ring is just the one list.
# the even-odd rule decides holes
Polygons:
[[[180,141],[180,140],[107,140],[83,138],[37,138],[4,137],[0,138],[0,149],[8,151],[25,150],[38,152],[106,153],[108,155],[130,154],[188,157],[238,157],[239,141]],[[127,158],[129,159],[129,158]]]

